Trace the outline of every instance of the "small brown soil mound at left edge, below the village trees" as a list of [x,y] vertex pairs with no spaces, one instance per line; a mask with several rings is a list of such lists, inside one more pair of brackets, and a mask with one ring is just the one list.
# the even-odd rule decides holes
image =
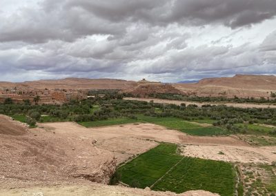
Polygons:
[[13,121],[10,117],[0,115],[0,134],[3,135],[23,135],[28,128],[18,121]]

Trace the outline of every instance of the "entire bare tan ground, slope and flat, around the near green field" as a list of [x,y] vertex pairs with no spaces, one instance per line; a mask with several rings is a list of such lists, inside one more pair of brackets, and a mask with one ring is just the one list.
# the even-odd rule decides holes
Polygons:
[[59,122],[28,129],[6,116],[0,123],[0,195],[175,195],[103,185],[118,164],[161,141],[179,144],[192,157],[257,164],[276,159],[275,147],[253,147],[237,137],[189,136],[154,124],[84,128]]

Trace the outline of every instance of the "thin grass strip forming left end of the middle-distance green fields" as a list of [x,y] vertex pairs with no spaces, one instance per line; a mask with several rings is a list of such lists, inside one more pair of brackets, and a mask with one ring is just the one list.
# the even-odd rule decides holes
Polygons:
[[84,121],[79,122],[78,124],[85,126],[87,128],[90,127],[100,127],[100,126],[112,126],[112,125],[118,125],[118,124],[130,124],[138,122],[135,119],[129,119],[129,118],[118,118],[118,119],[107,119],[107,120],[101,120],[101,121]]

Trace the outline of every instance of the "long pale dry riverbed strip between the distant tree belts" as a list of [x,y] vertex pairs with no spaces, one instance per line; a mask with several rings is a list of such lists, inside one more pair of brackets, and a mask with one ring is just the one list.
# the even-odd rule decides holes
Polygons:
[[234,103],[212,103],[212,102],[193,102],[193,101],[174,101],[174,100],[167,100],[167,99],[148,99],[148,98],[135,98],[135,97],[126,97],[124,98],[126,100],[138,100],[138,101],[151,101],[153,100],[155,103],[160,103],[160,104],[176,104],[180,105],[182,103],[186,105],[197,105],[201,107],[202,105],[210,104],[210,105],[225,105],[225,106],[233,106],[236,108],[276,108],[276,106],[273,105],[266,105],[266,104],[234,104]]

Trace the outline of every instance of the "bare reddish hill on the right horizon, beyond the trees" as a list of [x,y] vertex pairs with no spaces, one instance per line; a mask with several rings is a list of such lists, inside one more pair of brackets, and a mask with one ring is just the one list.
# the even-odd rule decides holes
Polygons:
[[172,84],[182,93],[200,97],[271,97],[276,92],[276,77],[266,75],[235,75],[201,79],[196,84]]

